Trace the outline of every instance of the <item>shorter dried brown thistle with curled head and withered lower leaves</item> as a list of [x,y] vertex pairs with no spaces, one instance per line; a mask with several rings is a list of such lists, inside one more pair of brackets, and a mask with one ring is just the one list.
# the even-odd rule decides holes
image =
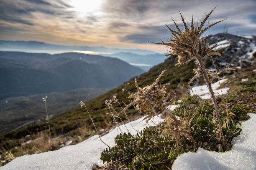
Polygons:
[[[172,133],[174,135],[175,140],[179,144],[179,138],[181,136],[185,136],[192,141],[192,143],[197,146],[197,143],[193,139],[190,134],[190,125],[192,119],[188,122],[187,117],[185,116],[185,121],[182,123],[180,120],[175,117],[172,112],[164,106],[165,91],[164,87],[158,85],[161,76],[164,74],[166,70],[162,71],[153,84],[140,88],[135,79],[135,85],[137,87],[138,92],[132,94],[129,93],[129,98],[133,98],[133,101],[128,104],[121,112],[124,112],[131,105],[136,105],[136,110],[143,112],[146,117],[146,122],[150,120],[154,116],[158,116],[161,114],[161,117],[165,117],[165,122],[167,129],[163,131],[161,135],[165,133]],[[167,115],[165,113],[167,112]]]

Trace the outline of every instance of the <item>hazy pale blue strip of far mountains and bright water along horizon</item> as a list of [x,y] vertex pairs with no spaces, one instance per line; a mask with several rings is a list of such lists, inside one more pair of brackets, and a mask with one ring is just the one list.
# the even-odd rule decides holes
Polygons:
[[[0,40],[0,51],[22,51],[26,50],[63,50],[63,51],[94,51],[101,53],[117,53],[117,52],[132,52],[140,55],[154,54],[155,52],[141,49],[120,49],[120,48],[107,48],[107,47],[89,47],[89,46],[78,46],[78,45],[55,45],[47,44],[38,41],[6,41]],[[48,52],[47,52],[48,53]]]

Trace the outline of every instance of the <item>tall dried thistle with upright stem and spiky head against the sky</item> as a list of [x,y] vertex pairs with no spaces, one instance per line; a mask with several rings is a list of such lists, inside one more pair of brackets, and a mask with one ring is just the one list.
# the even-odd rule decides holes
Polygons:
[[[215,8],[213,10],[215,10]],[[215,98],[214,92],[212,90],[212,81],[214,78],[220,78],[218,75],[220,73],[222,73],[223,71],[234,70],[234,69],[226,67],[226,68],[218,70],[218,71],[216,70],[216,72],[210,72],[209,70],[205,69],[205,64],[203,62],[203,59],[205,59],[205,57],[208,57],[211,55],[220,55],[219,52],[214,51],[217,44],[214,45],[213,47],[209,47],[209,45],[206,45],[206,39],[209,35],[207,35],[205,37],[201,37],[201,35],[207,29],[209,29],[213,25],[223,21],[223,20],[221,20],[216,23],[212,23],[212,24],[208,25],[206,28],[202,29],[203,25],[205,24],[206,20],[209,18],[212,11],[208,15],[206,15],[206,17],[203,21],[198,20],[196,26],[193,23],[193,17],[192,17],[192,20],[190,21],[189,25],[187,25],[187,23],[185,23],[185,21],[184,21],[184,18],[182,17],[182,14],[180,13],[182,22],[184,24],[184,30],[181,30],[173,20],[177,30],[175,30],[175,29],[172,30],[171,28],[169,28],[166,25],[168,27],[168,29],[170,30],[170,32],[172,32],[171,37],[169,38],[168,41],[157,42],[156,44],[166,45],[166,47],[168,47],[170,49],[169,50],[170,53],[167,54],[166,56],[177,55],[178,56],[177,65],[182,65],[191,60],[196,61],[198,67],[197,67],[197,69],[194,69],[195,76],[189,81],[189,87],[191,88],[190,83],[192,83],[192,81],[195,80],[197,77],[201,77],[201,76],[204,77],[207,87],[209,89],[210,95],[211,95],[212,102],[215,107],[214,118],[217,119],[217,122],[218,122],[218,128],[219,128],[219,133],[220,133],[220,139],[222,141],[222,146],[225,147],[223,131],[221,129],[220,114],[219,114],[219,110],[217,107],[216,98]],[[199,23],[200,23],[200,25],[199,25]],[[211,80],[210,80],[209,76],[211,77]]]

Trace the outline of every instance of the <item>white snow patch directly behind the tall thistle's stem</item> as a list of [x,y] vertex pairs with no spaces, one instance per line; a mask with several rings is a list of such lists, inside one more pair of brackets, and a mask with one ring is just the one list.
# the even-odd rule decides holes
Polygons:
[[[228,79],[223,79],[220,80],[220,83],[225,82]],[[222,89],[218,89],[218,87],[220,87],[220,83],[219,82],[215,82],[212,84],[212,90],[215,94],[215,96],[218,96],[219,94],[226,94],[229,90],[229,88],[222,88]],[[191,95],[199,95],[202,99],[210,99],[211,95],[209,93],[209,90],[207,88],[207,85],[201,85],[201,86],[196,86],[196,87],[192,87],[193,92],[190,90],[190,94]]]

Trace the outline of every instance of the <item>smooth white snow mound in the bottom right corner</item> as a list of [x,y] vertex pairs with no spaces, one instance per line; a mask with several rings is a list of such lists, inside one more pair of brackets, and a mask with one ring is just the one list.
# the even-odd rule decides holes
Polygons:
[[232,140],[232,149],[225,153],[199,148],[196,153],[179,155],[172,170],[256,170],[256,114],[242,122],[243,131]]

